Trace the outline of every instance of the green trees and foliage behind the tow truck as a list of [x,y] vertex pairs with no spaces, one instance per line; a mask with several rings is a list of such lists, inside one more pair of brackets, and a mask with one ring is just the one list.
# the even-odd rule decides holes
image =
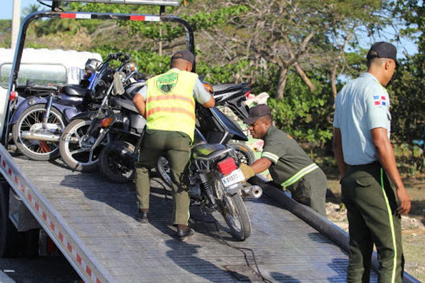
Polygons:
[[[247,80],[253,94],[267,92],[274,97],[278,93],[282,62],[290,61],[289,53],[298,56],[298,63],[316,89],[311,91],[290,65],[284,98],[280,101],[269,99],[269,106],[277,127],[300,142],[319,146],[332,138],[334,110],[330,73],[332,60],[339,55],[345,36],[354,31],[348,45],[350,51],[345,50],[339,60],[338,73],[342,81],[365,71],[367,50],[359,47],[359,32],[366,31],[373,36],[382,32],[393,19],[400,19],[405,24],[400,35],[413,38],[420,52],[406,59],[404,69],[396,71],[388,88],[393,117],[391,132],[397,143],[412,146],[413,140],[424,140],[421,135],[425,132],[422,95],[425,17],[421,2],[191,0],[187,7],[167,7],[165,14],[176,14],[193,27],[197,73],[213,84]],[[64,10],[82,12],[159,14],[159,7],[145,5],[61,2],[61,6]],[[28,11],[36,8],[32,5]],[[302,41],[311,32],[314,33],[311,41],[300,51]],[[8,34],[10,21],[0,20],[1,46],[8,47]],[[32,24],[28,32],[32,40],[26,47],[58,48],[52,45],[53,39],[65,41],[67,37],[78,35],[80,41],[86,42],[83,47],[103,57],[110,52],[130,53],[139,71],[148,76],[166,71],[171,53],[184,46],[184,28],[175,23],[47,19]],[[162,43],[162,56],[158,55],[159,42]],[[60,48],[68,46],[66,42]],[[83,48],[76,46],[72,48]],[[343,82],[337,83],[340,89]],[[416,153],[411,156],[417,160],[414,161],[417,170],[424,168],[423,151],[422,156]]]

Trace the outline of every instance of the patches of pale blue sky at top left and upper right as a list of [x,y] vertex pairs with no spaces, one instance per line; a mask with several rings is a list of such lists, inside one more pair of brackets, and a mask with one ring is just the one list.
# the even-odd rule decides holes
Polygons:
[[[0,19],[12,19],[12,9],[13,9],[14,0],[0,0],[0,1],[2,3],[5,2],[5,5],[2,5],[3,8],[0,9]],[[51,1],[45,0],[45,3],[51,4]],[[40,5],[36,0],[21,0],[21,11],[24,8],[27,8],[31,4]],[[40,10],[48,10],[48,9],[49,8],[45,7],[45,9],[40,9]],[[392,37],[391,34],[393,34],[393,31],[391,31],[391,29],[385,30],[385,32],[388,34],[389,38]],[[365,35],[365,36],[362,36],[362,38],[359,38],[359,40],[361,40],[362,47],[367,49],[375,41],[387,41],[387,38],[383,38],[383,37],[370,38]],[[400,58],[403,57],[402,53],[404,51],[406,51],[409,54],[417,53],[417,47],[413,42],[411,42],[411,40],[404,39],[402,40],[401,43],[396,44],[396,47],[398,49],[398,57],[400,56]]]

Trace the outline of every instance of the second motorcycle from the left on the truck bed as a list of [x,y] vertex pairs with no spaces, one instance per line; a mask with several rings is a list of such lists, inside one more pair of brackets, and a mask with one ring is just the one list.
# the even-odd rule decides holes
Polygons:
[[[121,65],[112,70],[110,60],[119,60]],[[110,142],[110,136],[99,127],[99,121],[116,111],[110,106],[111,97],[123,95],[125,88],[132,84],[144,84],[143,75],[138,73],[130,57],[123,53],[110,55],[110,60],[102,64],[99,76],[93,85],[102,84],[104,93],[101,103],[92,105],[90,111],[73,117],[60,138],[59,149],[62,160],[73,170],[94,171],[99,161],[99,153]],[[142,81],[142,82],[140,82]],[[98,95],[99,97],[99,95]]]

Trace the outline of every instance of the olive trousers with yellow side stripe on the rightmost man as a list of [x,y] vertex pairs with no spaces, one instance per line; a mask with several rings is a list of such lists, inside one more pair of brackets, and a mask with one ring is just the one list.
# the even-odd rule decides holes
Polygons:
[[349,166],[341,188],[350,233],[347,282],[369,282],[374,244],[378,282],[402,282],[401,217],[387,174],[379,162]]

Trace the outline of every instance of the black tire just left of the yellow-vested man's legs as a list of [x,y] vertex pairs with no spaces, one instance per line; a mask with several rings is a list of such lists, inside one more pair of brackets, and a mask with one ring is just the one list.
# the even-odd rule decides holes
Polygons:
[[110,182],[126,183],[134,179],[135,169],[125,162],[132,158],[134,145],[122,140],[108,143],[100,153],[99,169]]

